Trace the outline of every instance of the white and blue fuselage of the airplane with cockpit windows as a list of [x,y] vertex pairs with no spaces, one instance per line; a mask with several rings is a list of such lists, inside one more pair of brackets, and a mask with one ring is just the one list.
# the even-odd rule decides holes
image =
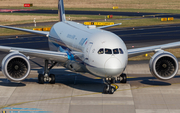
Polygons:
[[86,69],[100,77],[119,76],[127,65],[127,48],[121,38],[111,32],[65,21],[56,23],[50,30],[49,47],[52,51],[66,51]]

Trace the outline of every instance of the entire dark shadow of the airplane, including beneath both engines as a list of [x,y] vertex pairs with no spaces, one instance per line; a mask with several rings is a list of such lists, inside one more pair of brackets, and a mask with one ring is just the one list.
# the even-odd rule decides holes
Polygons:
[[[37,73],[42,74],[43,68],[41,69],[31,69],[37,71]],[[71,72],[67,69],[52,69],[50,73],[55,74],[56,83],[65,84],[75,89],[91,91],[91,92],[102,92],[104,83],[102,79],[94,79],[87,76],[84,76],[80,73]],[[180,76],[175,76],[174,78],[180,78]],[[128,78],[127,81],[138,81],[141,84],[153,85],[153,86],[169,86],[171,83],[159,81],[155,77],[136,77]],[[26,86],[25,82],[35,82],[38,83],[37,77],[28,78],[22,81],[21,83],[10,82],[5,78],[0,79],[0,86],[7,87],[23,87]],[[47,84],[46,82],[45,84]],[[119,83],[119,82],[117,82]]]

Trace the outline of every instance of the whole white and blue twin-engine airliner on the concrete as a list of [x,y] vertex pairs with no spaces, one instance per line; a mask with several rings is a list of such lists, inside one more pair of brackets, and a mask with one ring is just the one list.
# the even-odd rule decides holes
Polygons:
[[[96,27],[83,25],[65,18],[63,0],[58,2],[60,22],[54,24],[50,32],[34,31],[10,26],[2,28],[14,29],[48,37],[50,50],[38,50],[0,46],[0,51],[9,53],[2,60],[3,75],[11,81],[22,81],[28,77],[31,67],[29,56],[45,60],[44,73],[38,75],[39,84],[49,82],[55,84],[55,75],[50,70],[61,63],[66,69],[74,72],[88,72],[104,80],[104,94],[113,94],[115,81],[126,83],[123,73],[128,64],[128,58],[155,52],[149,62],[150,72],[160,80],[173,78],[178,71],[178,60],[167,48],[178,47],[180,42],[127,49],[123,40],[104,28],[119,24]],[[51,66],[49,63],[51,62]]]

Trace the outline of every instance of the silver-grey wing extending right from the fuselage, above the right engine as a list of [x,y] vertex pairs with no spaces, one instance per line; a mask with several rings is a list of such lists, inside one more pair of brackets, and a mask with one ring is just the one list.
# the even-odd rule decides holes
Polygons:
[[156,45],[150,47],[142,47],[136,49],[128,49],[128,57],[130,58],[137,55],[145,54],[147,52],[156,52],[160,49],[168,49],[174,47],[180,47],[180,42],[174,42],[174,43],[168,43],[168,44],[162,44],[162,45]]

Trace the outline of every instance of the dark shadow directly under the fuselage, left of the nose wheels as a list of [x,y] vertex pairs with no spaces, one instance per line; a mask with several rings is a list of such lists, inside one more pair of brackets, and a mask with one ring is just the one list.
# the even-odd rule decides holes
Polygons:
[[[37,71],[37,73],[42,74],[43,69],[31,69]],[[91,92],[102,92],[104,83],[102,79],[93,79],[86,77],[80,73],[71,72],[67,69],[51,69],[50,73],[55,74],[56,83],[65,84],[75,89],[91,91]],[[25,79],[26,82],[36,82],[36,79]],[[45,84],[47,84],[46,82]]]

